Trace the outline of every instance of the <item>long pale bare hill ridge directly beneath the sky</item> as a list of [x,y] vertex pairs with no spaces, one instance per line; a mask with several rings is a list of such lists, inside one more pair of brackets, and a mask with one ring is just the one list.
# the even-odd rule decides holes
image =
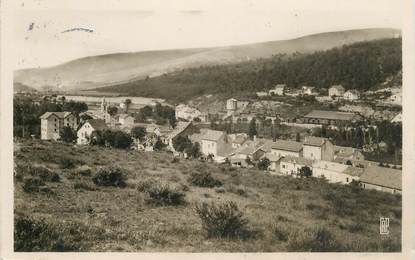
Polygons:
[[312,53],[360,41],[392,38],[395,29],[328,32],[292,40],[200,49],[115,53],[85,57],[48,68],[15,71],[14,80],[37,90],[79,90],[128,83],[186,68],[233,64],[272,55]]

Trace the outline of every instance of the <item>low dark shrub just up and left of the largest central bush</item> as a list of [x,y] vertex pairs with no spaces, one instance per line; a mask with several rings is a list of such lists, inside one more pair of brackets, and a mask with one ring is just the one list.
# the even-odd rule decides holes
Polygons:
[[147,188],[146,193],[149,196],[147,202],[150,204],[177,206],[185,203],[185,194],[167,184],[156,183]]

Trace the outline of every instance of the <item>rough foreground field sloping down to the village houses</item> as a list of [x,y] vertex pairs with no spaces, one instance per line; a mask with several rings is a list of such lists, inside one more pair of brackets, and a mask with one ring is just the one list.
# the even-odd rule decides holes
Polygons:
[[[14,156],[17,251],[401,250],[398,195],[173,159],[167,152],[25,140],[15,143]],[[97,185],[98,169],[108,166],[121,169],[125,184]],[[191,182],[201,172],[211,174],[215,187]],[[184,200],[158,203],[145,192],[154,183],[168,184]],[[228,201],[241,213],[243,232],[209,233],[196,208]],[[390,218],[389,235],[379,235],[379,217]]]

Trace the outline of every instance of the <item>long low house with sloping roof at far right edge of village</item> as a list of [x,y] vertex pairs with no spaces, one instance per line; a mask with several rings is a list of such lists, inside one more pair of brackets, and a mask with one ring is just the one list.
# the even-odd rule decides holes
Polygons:
[[363,189],[402,194],[402,171],[379,166],[367,167],[360,176],[360,186]]

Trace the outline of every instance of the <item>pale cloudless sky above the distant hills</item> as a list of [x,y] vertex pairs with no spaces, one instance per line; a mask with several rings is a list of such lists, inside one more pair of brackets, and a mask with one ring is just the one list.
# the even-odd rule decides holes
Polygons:
[[401,28],[396,0],[15,0],[15,69],[107,53],[238,45]]

